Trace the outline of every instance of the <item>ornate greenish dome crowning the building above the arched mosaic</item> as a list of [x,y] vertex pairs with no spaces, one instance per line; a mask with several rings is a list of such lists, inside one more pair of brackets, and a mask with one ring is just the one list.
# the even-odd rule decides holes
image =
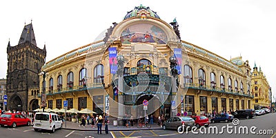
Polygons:
[[124,20],[131,17],[141,17],[142,19],[146,19],[148,17],[155,17],[160,19],[160,17],[156,14],[156,12],[150,10],[149,7],[142,6],[142,5],[135,7],[133,10],[128,12],[124,17]]

